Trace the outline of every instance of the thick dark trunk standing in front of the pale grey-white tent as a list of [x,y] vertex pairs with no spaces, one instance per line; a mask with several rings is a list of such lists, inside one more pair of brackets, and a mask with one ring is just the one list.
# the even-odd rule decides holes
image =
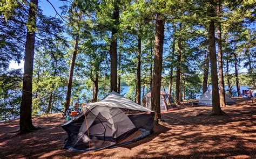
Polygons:
[[[211,1],[213,4],[213,1]],[[214,17],[214,9],[211,7],[210,16]],[[212,115],[222,115],[223,111],[220,108],[219,88],[218,88],[218,72],[216,60],[216,47],[215,47],[215,33],[214,21],[211,19],[208,36],[209,36],[209,52],[211,60],[211,77],[212,77]]]

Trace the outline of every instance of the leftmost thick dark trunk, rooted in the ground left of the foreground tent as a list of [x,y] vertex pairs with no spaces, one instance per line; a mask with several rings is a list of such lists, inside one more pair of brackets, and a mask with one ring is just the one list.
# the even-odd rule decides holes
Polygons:
[[[36,27],[38,1],[31,0],[29,8],[28,24],[32,28]],[[35,48],[35,31],[28,31],[26,33],[25,44],[25,61],[24,61],[24,77],[22,87],[22,102],[19,112],[19,128],[21,132],[28,132],[36,130],[37,128],[32,124],[32,77],[33,77],[33,59]]]

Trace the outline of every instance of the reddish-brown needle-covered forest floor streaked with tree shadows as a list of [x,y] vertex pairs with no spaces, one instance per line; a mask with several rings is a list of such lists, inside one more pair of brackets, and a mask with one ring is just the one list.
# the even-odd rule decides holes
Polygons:
[[237,98],[236,102],[223,108],[228,116],[208,116],[212,107],[183,106],[163,114],[167,124],[143,140],[87,153],[63,148],[67,134],[60,127],[65,120],[59,114],[33,118],[33,124],[41,129],[23,135],[10,133],[18,130],[18,120],[1,122],[0,158],[256,158],[256,105],[246,98]]

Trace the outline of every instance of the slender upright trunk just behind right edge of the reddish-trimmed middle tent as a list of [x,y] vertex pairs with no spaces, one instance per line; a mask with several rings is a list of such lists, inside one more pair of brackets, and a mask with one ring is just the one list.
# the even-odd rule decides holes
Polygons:
[[[179,31],[181,24],[179,24]],[[177,71],[176,71],[176,100],[180,101],[180,69],[181,69],[181,37],[178,38],[178,55],[177,55]],[[180,104],[178,102],[178,104]]]

